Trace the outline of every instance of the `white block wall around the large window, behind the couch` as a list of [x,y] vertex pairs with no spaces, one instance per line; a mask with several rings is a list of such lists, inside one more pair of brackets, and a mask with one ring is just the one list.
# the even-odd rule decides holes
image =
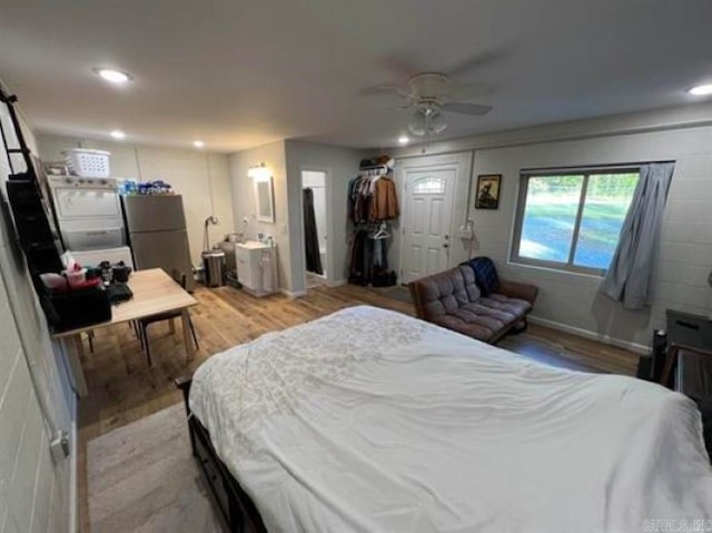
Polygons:
[[[712,269],[712,127],[705,125],[712,118],[712,108],[703,106],[695,110],[696,113],[691,113],[690,109],[682,108],[679,120],[673,111],[665,110],[635,113],[630,120],[612,117],[607,122],[595,119],[565,128],[556,125],[532,129],[527,135],[514,132],[510,142],[521,145],[526,138],[524,146],[506,147],[504,134],[442,144],[443,151],[463,149],[468,144],[475,149],[473,177],[503,175],[498,210],[474,210],[474,199],[469,198],[468,209],[477,239],[474,255],[495,259],[503,277],[540,286],[535,319],[640,349],[650,344],[654,328],[665,327],[666,308],[709,315],[712,312],[712,288],[706,283]],[[566,129],[577,140],[535,141],[537,135],[550,138],[553,132],[565,135]],[[621,134],[616,135],[616,129]],[[478,148],[487,142],[504,147]],[[431,152],[435,149],[438,147]],[[668,159],[675,160],[676,165],[655,265],[652,308],[624,310],[621,304],[597,293],[600,277],[508,263],[521,169]],[[455,213],[456,220],[466,216],[464,210]],[[465,258],[461,247],[451,264]]]

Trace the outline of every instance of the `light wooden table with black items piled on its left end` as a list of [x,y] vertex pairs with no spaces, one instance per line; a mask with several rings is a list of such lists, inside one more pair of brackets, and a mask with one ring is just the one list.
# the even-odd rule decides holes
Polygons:
[[63,344],[75,378],[75,388],[80,397],[88,394],[87,381],[81,368],[81,355],[83,354],[82,333],[147,318],[161,313],[180,310],[182,342],[186,347],[186,354],[188,359],[192,359],[195,356],[190,325],[188,323],[188,307],[196,305],[198,302],[160,268],[135,272],[131,274],[127,285],[134,293],[134,298],[112,306],[110,320],[53,335],[53,338]]

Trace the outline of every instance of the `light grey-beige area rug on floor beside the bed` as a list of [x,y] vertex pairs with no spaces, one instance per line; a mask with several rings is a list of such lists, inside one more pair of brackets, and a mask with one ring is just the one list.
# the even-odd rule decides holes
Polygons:
[[224,531],[176,404],[87,445],[91,533]]

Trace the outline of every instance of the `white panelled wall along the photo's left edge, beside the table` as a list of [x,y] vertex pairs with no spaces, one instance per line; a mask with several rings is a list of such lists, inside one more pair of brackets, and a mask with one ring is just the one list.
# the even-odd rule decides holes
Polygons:
[[[0,120],[9,132],[4,106],[0,106]],[[26,135],[33,148],[29,128]],[[47,323],[17,247],[4,186],[8,174],[8,161],[2,155],[0,532],[65,532],[76,520],[76,454],[55,464],[49,443],[56,427],[67,431],[76,446],[76,401],[66,379],[63,355],[50,343]],[[40,402],[47,407],[44,415]]]

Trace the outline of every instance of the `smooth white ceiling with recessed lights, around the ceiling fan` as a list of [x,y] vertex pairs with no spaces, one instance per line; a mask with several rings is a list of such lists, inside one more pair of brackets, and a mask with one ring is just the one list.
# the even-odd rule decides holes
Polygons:
[[362,92],[413,70],[488,58],[456,79],[495,109],[449,116],[459,137],[692,101],[711,28],[709,0],[3,0],[0,78],[41,132],[386,147],[407,117]]

